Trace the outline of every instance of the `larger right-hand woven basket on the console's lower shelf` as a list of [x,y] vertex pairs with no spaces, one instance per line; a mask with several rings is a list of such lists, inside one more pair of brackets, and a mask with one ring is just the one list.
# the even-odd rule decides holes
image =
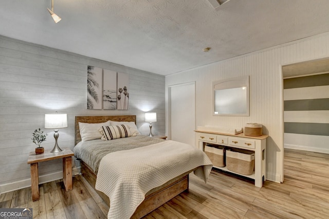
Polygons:
[[251,175],[255,165],[255,154],[250,151],[226,150],[226,167],[242,175]]

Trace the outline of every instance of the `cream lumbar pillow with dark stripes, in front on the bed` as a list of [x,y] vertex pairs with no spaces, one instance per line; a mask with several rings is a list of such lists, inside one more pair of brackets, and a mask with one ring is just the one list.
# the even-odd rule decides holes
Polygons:
[[101,126],[99,133],[102,134],[102,140],[112,140],[132,136],[129,127],[125,124]]

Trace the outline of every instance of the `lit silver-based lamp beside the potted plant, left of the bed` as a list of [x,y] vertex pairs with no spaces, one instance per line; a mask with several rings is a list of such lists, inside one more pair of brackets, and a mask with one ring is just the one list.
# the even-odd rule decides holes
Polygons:
[[46,113],[45,114],[45,129],[54,129],[53,137],[55,138],[55,146],[50,151],[51,153],[57,153],[63,151],[58,143],[59,137],[58,129],[67,127],[67,114],[66,113]]

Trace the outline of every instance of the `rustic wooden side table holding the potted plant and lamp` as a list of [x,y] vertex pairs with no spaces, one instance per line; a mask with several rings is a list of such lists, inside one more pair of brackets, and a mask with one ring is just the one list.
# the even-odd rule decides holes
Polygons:
[[63,182],[65,190],[72,190],[72,156],[74,153],[69,149],[63,149],[58,153],[50,153],[45,150],[43,154],[36,155],[31,152],[27,163],[31,166],[31,190],[33,202],[39,200],[39,162],[63,158]]

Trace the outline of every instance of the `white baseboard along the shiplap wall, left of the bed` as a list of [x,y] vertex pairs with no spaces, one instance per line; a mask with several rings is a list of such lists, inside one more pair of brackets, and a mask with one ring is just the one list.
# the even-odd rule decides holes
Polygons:
[[[77,175],[79,173],[80,173],[80,167],[72,169],[72,175]],[[46,182],[51,182],[51,181],[54,181],[57,179],[62,179],[62,178],[63,178],[63,171],[41,175],[41,176],[39,176],[39,184],[44,184]],[[31,186],[31,178],[20,180],[20,181],[15,181],[15,182],[10,182],[8,184],[0,185],[0,194],[27,188],[30,186]]]

